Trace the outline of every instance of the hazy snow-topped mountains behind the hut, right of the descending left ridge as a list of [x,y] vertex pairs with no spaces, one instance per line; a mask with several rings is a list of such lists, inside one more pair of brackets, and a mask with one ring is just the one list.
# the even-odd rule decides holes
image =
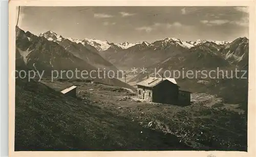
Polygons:
[[[241,53],[239,53],[240,50],[236,50],[236,43],[234,43],[239,42],[238,40],[243,44],[243,47],[240,46],[239,48],[241,49]],[[232,50],[229,51],[231,45]],[[100,54],[119,69],[131,69],[133,67],[146,68],[175,56],[175,60],[177,60],[177,56],[184,57],[188,52],[195,52],[198,50],[203,52],[207,51],[212,56],[217,58],[221,57],[229,62],[240,62],[246,58],[246,55],[243,56],[242,49],[248,49],[248,39],[245,37],[238,38],[232,42],[205,40],[184,42],[176,38],[165,38],[152,43],[142,42],[127,49],[121,49],[116,45],[113,45],[109,49],[100,52]],[[244,53],[248,54],[248,52]],[[208,59],[211,60],[212,58],[209,56]]]

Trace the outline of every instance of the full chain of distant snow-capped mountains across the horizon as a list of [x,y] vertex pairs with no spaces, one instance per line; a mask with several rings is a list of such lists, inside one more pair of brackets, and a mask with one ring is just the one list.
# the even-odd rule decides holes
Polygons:
[[[101,41],[97,39],[76,39],[71,37],[64,38],[61,35],[57,35],[52,31],[40,33],[39,37],[45,37],[49,41],[60,44],[60,46],[72,52],[78,58],[86,60],[88,63],[95,65],[96,67],[115,70],[115,65],[119,66],[119,63],[129,65],[129,60],[134,60],[134,56],[135,58],[137,58],[135,59],[135,61],[139,63],[141,63],[141,60],[138,59],[148,59],[147,56],[154,58],[155,61],[153,62],[157,63],[162,59],[164,60],[168,57],[173,56],[174,54],[184,52],[188,49],[204,49],[202,48],[204,46],[210,48],[212,53],[214,54],[221,53],[223,56],[225,56],[225,60],[229,60],[230,62],[240,62],[244,58],[248,58],[246,57],[246,54],[248,54],[248,52],[243,51],[248,49],[248,39],[246,37],[238,38],[234,41],[207,41],[201,39],[198,39],[196,41],[182,41],[177,38],[167,37],[165,39],[156,40],[151,43],[147,41],[136,43],[129,43],[127,41],[123,43],[110,43],[108,41]],[[240,50],[235,50],[237,49],[237,44],[240,44],[243,47],[240,46]],[[232,48],[229,51],[230,47]],[[159,51],[161,52],[161,54],[155,53]],[[99,52],[100,55],[96,52]],[[135,55],[134,52],[136,53]],[[152,54],[152,52],[155,54]],[[138,55],[140,55],[141,57],[139,57]],[[103,58],[101,56],[103,56]],[[128,62],[126,62],[126,60],[128,60]],[[133,61],[132,64],[134,64],[135,61]],[[152,61],[145,61],[143,59],[142,62],[150,62],[150,64],[152,64]],[[113,63],[115,65],[113,65]]]

